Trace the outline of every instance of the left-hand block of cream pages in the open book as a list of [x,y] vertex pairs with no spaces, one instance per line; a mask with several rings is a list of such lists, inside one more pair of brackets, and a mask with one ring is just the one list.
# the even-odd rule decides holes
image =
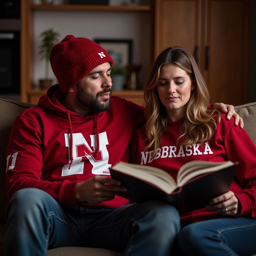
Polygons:
[[167,194],[172,193],[176,189],[176,182],[173,177],[155,167],[119,162],[111,167],[111,169],[151,183]]

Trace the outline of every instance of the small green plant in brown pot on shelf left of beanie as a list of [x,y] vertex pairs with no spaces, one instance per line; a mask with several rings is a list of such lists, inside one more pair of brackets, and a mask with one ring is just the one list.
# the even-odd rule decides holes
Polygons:
[[40,38],[41,45],[39,46],[39,55],[41,59],[45,59],[45,79],[40,79],[41,89],[47,89],[52,85],[52,79],[49,79],[49,58],[51,48],[58,42],[59,33],[52,28],[42,31]]

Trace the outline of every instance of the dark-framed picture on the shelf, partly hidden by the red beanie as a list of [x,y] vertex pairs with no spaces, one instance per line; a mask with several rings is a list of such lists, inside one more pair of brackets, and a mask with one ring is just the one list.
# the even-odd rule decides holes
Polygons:
[[114,61],[114,65],[125,67],[132,63],[132,40],[95,39]]

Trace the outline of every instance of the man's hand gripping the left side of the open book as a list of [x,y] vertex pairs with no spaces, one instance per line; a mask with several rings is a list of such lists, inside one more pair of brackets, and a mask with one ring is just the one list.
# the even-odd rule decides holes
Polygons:
[[79,182],[76,186],[76,201],[98,204],[109,201],[119,192],[127,191],[121,187],[121,182],[106,176],[95,175],[90,179]]

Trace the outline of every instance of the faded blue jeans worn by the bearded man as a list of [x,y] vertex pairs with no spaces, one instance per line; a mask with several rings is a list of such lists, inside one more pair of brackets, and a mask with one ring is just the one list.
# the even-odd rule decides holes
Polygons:
[[19,190],[7,206],[4,255],[47,255],[65,246],[123,255],[170,255],[180,231],[177,210],[160,201],[114,209],[62,208],[48,193]]

